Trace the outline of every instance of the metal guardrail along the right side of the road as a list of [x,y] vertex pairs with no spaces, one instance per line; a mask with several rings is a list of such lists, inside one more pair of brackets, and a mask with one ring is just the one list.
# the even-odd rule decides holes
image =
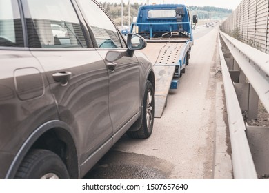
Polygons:
[[269,112],[269,55],[220,34],[234,177],[257,179],[258,174],[269,174],[269,128],[249,127],[242,112],[248,112],[248,119],[257,119],[259,99]]

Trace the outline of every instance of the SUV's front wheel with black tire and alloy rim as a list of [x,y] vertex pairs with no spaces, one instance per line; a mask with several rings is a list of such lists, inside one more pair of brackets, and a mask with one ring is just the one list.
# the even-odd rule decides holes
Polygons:
[[146,88],[143,96],[142,125],[137,131],[128,131],[128,136],[137,139],[146,139],[152,134],[154,123],[154,88],[150,81],[146,82]]

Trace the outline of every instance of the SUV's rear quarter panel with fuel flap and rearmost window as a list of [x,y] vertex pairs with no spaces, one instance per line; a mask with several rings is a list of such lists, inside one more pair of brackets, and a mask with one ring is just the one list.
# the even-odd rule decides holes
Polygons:
[[10,176],[34,130],[58,118],[46,75],[25,48],[24,34],[18,1],[0,0],[0,179]]

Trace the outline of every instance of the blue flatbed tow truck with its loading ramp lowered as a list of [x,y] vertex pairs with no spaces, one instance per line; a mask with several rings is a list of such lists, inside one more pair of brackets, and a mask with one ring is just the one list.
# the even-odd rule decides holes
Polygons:
[[[198,18],[182,4],[140,6],[137,22],[130,32],[147,41],[141,52],[150,59],[155,71],[155,117],[160,118],[166,107],[168,92],[176,89],[179,78],[189,63],[194,44],[192,28]],[[195,25],[195,26],[193,26]]]

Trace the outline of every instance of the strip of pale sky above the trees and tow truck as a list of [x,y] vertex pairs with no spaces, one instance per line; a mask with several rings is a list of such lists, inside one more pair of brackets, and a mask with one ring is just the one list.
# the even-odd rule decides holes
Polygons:
[[[97,0],[98,2],[121,3],[121,0]],[[129,0],[123,0],[128,3]],[[130,0],[130,3],[146,3],[147,0]],[[149,0],[152,3],[179,3],[186,6],[213,6],[218,8],[228,8],[235,10],[242,0]]]

